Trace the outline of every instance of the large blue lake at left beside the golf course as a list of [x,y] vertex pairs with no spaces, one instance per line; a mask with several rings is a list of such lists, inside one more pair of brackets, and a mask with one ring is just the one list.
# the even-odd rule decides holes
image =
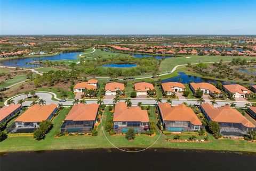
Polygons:
[[36,67],[36,64],[29,64],[29,62],[34,62],[33,58],[38,61],[42,59],[42,61],[58,61],[58,60],[71,60],[77,59],[76,55],[81,54],[81,52],[71,52],[71,53],[60,53],[59,55],[54,56],[41,56],[41,57],[27,57],[27,58],[17,58],[17,59],[8,59],[4,61],[0,61],[2,65],[6,66],[14,66],[14,67]]

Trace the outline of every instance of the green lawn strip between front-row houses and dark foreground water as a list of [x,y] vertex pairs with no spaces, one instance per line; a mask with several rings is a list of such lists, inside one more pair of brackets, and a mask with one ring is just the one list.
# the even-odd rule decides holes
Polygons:
[[[150,108],[154,110],[154,107]],[[77,135],[77,136],[60,136],[54,138],[55,133],[60,130],[61,121],[65,118],[69,108],[64,108],[59,115],[53,119],[54,127],[46,135],[45,140],[36,141],[33,136],[12,136],[0,142],[0,152],[7,151],[31,151],[31,150],[58,150],[58,149],[86,149],[86,148],[112,148],[111,144],[103,135],[101,124],[98,126],[98,136]],[[153,112],[154,113],[154,112]],[[151,114],[150,114],[151,115]],[[151,118],[156,118],[154,115]],[[106,119],[106,113],[103,114],[103,121]],[[102,122],[101,122],[102,123]],[[106,133],[107,134],[107,133]],[[117,147],[141,147],[146,148],[154,143],[159,133],[153,137],[147,135],[136,135],[134,141],[127,141],[124,135],[109,136],[107,138]],[[221,139],[216,140],[209,135],[210,142],[167,142],[166,138],[172,135],[161,135],[153,147],[178,148],[178,149],[207,149],[207,150],[230,150],[230,151],[248,151],[256,152],[256,143],[245,140]],[[182,135],[183,137],[183,135]],[[184,135],[185,137],[185,135]]]

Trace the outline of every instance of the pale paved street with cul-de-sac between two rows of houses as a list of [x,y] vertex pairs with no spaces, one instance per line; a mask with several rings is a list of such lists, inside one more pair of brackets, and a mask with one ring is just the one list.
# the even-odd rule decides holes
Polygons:
[[[55,99],[59,100],[57,98],[57,96],[52,93],[52,92],[36,92],[36,95],[39,97],[39,99],[44,99],[46,101],[46,104],[51,104],[51,103],[54,103],[54,104],[59,104],[59,103],[62,103],[63,105],[65,106],[71,106],[73,105],[73,101],[74,100],[67,100],[66,102],[59,102],[59,101],[55,101],[55,100],[52,100],[52,97],[54,97]],[[17,104],[18,100],[20,99],[25,99],[27,98],[26,95],[22,94],[22,95],[18,95],[18,96],[15,96],[15,97],[12,97],[12,98],[9,98],[9,99],[13,99],[15,101],[15,104]],[[7,99],[8,100],[8,99]],[[5,101],[5,105],[7,104],[7,100]],[[87,104],[92,104],[93,102],[97,102],[98,99],[86,99],[86,103]],[[113,100],[112,99],[102,99],[104,104],[113,104]],[[124,101],[121,100],[121,101]],[[155,99],[151,99],[151,98],[144,98],[144,99],[131,99],[132,101],[132,104],[133,105],[137,105],[138,102],[142,102],[142,104],[148,104],[148,105],[153,105],[153,104],[156,104],[156,101]],[[195,99],[180,99],[180,100],[172,100],[172,105],[179,105],[179,104],[182,104],[182,102],[187,102],[188,105],[198,105],[197,100]],[[211,100],[205,100],[205,102],[210,102]],[[231,102],[235,102],[236,104],[236,107],[245,107],[245,104],[247,102],[245,101],[220,101],[220,100],[216,100],[218,102],[218,105],[215,105],[215,106],[223,106],[225,104],[230,104]],[[24,106],[30,106],[32,101],[25,101],[22,105]],[[166,102],[166,99],[163,99],[162,102]]]

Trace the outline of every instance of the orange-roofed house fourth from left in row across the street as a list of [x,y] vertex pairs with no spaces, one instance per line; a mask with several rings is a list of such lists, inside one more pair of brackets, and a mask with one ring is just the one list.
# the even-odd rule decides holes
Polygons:
[[182,83],[179,82],[165,82],[161,84],[162,90],[166,92],[166,95],[172,95],[173,92],[182,92],[186,88]]

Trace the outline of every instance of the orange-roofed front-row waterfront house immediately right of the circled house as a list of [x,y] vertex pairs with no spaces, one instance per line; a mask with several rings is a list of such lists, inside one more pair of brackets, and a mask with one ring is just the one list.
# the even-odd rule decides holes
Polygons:
[[194,111],[183,104],[171,106],[168,103],[158,104],[159,113],[164,121],[165,131],[193,132],[203,128]]

